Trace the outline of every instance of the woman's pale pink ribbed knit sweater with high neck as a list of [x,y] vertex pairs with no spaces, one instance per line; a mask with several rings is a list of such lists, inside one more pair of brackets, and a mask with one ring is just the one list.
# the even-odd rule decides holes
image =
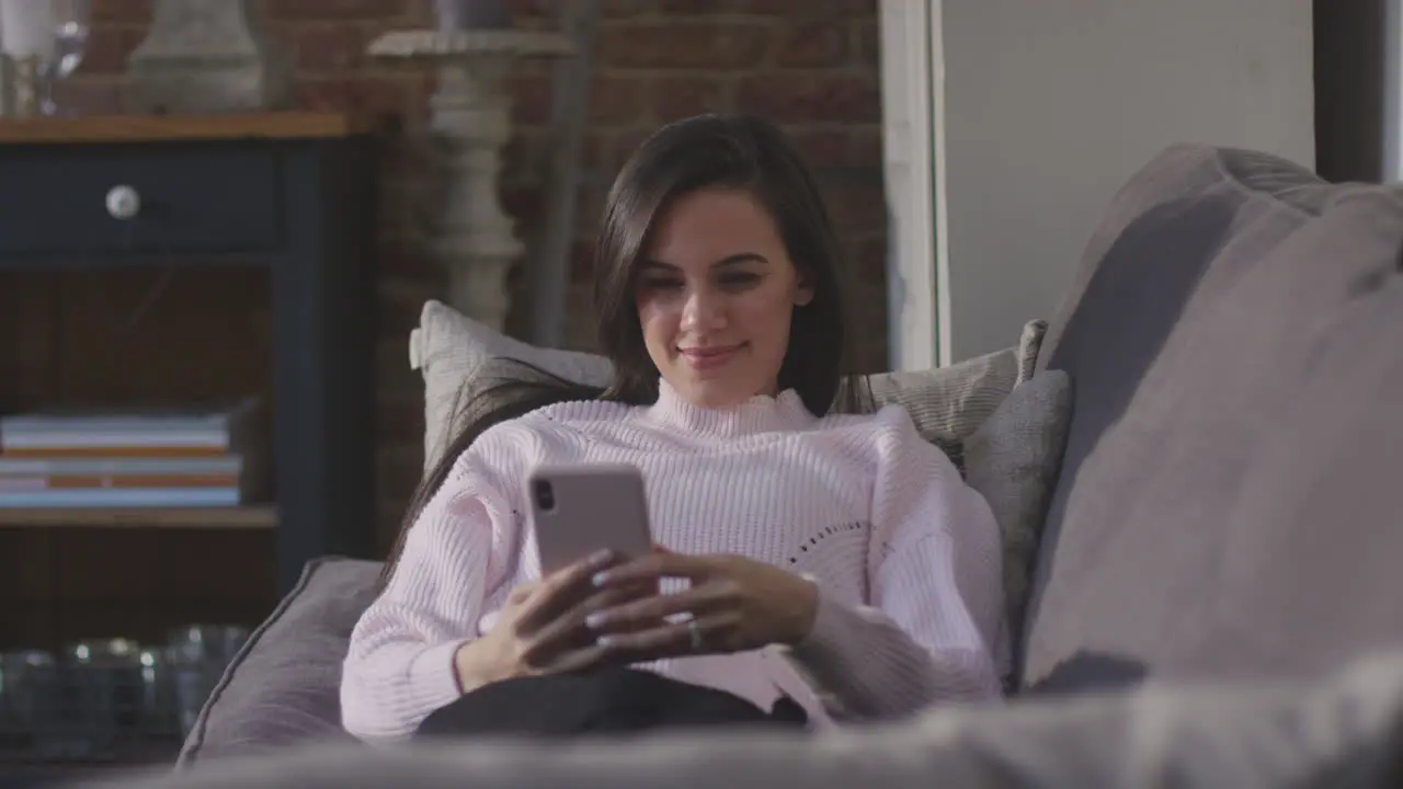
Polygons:
[[641,665],[769,709],[788,694],[818,720],[898,716],[1000,692],[999,529],[985,500],[899,406],[814,417],[788,390],[735,410],[564,403],[484,432],[410,529],[398,570],[351,636],[345,729],[407,737],[459,696],[452,656],[515,585],[540,577],[525,476],[542,463],[643,470],[655,541],[737,553],[814,578],[794,649]]

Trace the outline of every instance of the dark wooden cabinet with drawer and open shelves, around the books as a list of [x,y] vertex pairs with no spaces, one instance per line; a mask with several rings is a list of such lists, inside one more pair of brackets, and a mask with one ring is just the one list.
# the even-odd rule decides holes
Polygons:
[[0,414],[253,396],[272,487],[231,507],[0,507],[0,651],[251,628],[307,560],[375,555],[379,128],[0,119]]

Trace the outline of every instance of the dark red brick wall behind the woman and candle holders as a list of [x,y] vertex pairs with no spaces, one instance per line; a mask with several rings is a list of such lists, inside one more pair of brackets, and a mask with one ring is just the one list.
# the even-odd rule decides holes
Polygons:
[[[516,24],[556,27],[565,0],[516,0]],[[704,111],[739,110],[780,122],[815,168],[850,263],[854,365],[885,365],[885,208],[877,0],[607,0],[600,25],[579,194],[568,331],[592,336],[588,241],[603,192],[643,135]],[[425,132],[432,77],[370,60],[380,32],[429,22],[427,0],[264,0],[272,34],[296,53],[303,108],[403,118],[384,163],[380,254],[380,493],[389,526],[403,511],[421,463],[422,387],[407,369],[405,336],[442,274],[421,248],[431,147]],[[150,0],[97,0],[91,48],[60,97],[87,111],[119,111],[125,58],[145,35]],[[502,199],[522,237],[539,226],[547,150],[547,62],[511,77],[516,136],[506,152]],[[518,289],[521,285],[515,285]],[[529,316],[513,313],[512,326]],[[389,528],[386,529],[389,532]]]

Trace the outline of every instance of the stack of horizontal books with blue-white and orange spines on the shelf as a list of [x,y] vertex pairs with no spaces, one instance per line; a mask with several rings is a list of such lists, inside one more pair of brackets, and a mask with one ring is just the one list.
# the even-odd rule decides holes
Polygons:
[[267,494],[257,403],[0,417],[0,507],[236,507]]

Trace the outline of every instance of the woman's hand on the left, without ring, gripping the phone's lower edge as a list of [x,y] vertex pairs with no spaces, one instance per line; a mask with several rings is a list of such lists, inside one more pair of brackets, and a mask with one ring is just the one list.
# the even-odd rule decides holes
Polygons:
[[585,618],[655,591],[647,584],[596,588],[592,577],[619,562],[617,555],[599,552],[513,588],[492,629],[453,656],[463,692],[512,677],[577,671],[599,663],[603,654]]

